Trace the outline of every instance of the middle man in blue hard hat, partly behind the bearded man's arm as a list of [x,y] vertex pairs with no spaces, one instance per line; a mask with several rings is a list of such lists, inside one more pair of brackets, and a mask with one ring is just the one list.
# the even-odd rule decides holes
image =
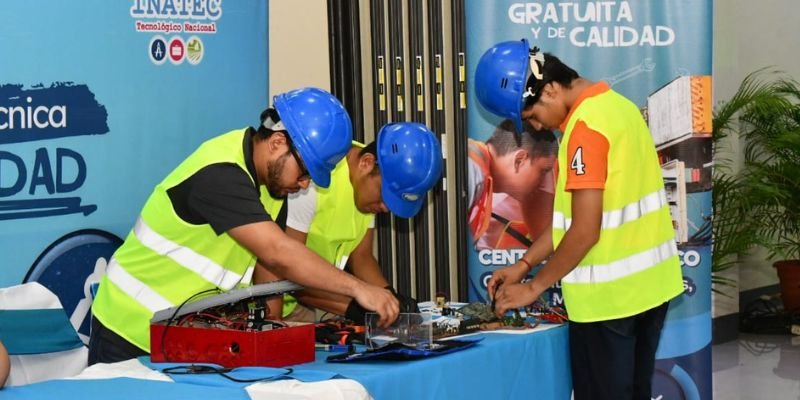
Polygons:
[[[442,149],[428,127],[413,122],[387,124],[369,145],[353,142],[333,169],[330,187],[311,185],[289,197],[287,233],[337,268],[392,290],[400,300],[401,312],[416,312],[416,300],[392,289],[373,255],[374,217],[387,211],[401,218],[413,217],[441,174]],[[259,273],[264,272],[270,271]],[[351,296],[306,289],[295,297],[284,296],[282,307],[280,298],[271,303],[274,317],[313,321],[313,308],[319,308],[364,324],[367,310]]]

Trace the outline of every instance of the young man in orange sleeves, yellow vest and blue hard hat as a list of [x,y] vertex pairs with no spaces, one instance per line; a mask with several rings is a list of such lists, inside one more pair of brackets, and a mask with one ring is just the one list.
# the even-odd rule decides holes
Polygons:
[[495,312],[531,304],[561,280],[575,399],[649,400],[661,328],[683,279],[661,165],[639,107],[524,39],[484,53],[475,89],[518,131],[525,121],[562,133],[551,226],[489,280]]

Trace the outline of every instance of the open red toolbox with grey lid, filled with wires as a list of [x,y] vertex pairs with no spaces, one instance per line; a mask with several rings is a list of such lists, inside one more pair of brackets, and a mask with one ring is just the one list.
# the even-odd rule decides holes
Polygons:
[[254,285],[161,310],[150,321],[153,362],[284,367],[314,361],[314,324],[268,321],[266,299],[298,290]]

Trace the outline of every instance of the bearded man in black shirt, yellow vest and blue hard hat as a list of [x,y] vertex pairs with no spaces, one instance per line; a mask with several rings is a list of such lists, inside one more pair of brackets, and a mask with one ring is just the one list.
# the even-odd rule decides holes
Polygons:
[[350,117],[317,88],[279,94],[273,104],[257,129],[206,141],[155,187],[100,281],[90,364],[147,354],[156,311],[249,285],[254,271],[267,267],[352,296],[383,325],[397,318],[390,291],[331,268],[275,222],[288,194],[312,180],[329,185],[350,150]]

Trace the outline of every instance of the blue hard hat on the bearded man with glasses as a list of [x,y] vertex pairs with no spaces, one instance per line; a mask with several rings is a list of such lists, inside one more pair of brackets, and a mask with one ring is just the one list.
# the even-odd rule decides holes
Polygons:
[[313,87],[276,95],[272,101],[314,184],[328,187],[331,171],[353,141],[347,110],[332,94]]

